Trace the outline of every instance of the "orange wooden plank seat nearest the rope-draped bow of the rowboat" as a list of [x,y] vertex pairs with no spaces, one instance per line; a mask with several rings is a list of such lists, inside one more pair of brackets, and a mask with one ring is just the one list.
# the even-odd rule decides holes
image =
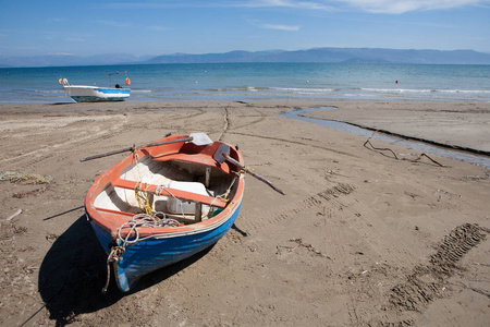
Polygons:
[[[140,190],[144,190],[149,193],[154,193],[156,195],[168,195],[168,196],[175,196],[176,198],[184,199],[184,201],[191,201],[195,203],[200,203],[204,205],[217,207],[223,209],[226,206],[226,202],[222,201],[218,197],[201,195],[193,192],[186,192],[170,187],[163,187],[159,185],[154,184],[147,184],[147,183],[139,183],[135,181],[128,181],[128,180],[115,180],[112,181],[111,184],[114,187],[121,187],[121,189],[128,189],[134,190],[136,186]],[[158,192],[157,192],[158,191]]]

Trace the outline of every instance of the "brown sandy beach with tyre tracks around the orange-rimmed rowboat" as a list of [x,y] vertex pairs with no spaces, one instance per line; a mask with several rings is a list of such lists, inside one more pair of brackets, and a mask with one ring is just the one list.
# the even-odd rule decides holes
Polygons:
[[[490,171],[291,120],[293,108],[489,150],[489,104],[120,102],[0,105],[1,326],[483,326],[490,322]],[[120,293],[83,211],[123,155],[206,132],[238,144],[250,175],[235,226],[205,253]],[[22,210],[22,213],[20,213]],[[20,213],[20,214],[19,214]],[[14,216],[17,214],[16,216]]]

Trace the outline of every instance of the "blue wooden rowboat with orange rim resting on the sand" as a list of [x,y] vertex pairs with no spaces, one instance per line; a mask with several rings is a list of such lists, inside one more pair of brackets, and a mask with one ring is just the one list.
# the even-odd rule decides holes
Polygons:
[[245,182],[241,153],[209,137],[194,138],[170,135],[136,148],[88,190],[87,218],[123,292],[142,276],[218,242],[238,215]]

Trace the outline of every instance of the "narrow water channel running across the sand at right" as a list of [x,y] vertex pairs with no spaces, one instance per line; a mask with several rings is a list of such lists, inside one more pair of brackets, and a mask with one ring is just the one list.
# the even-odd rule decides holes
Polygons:
[[[353,133],[360,136],[369,137],[372,135],[372,131],[365,130],[362,128],[357,128],[347,123],[342,123],[338,121],[331,121],[331,120],[322,120],[322,119],[316,119],[316,118],[308,118],[303,117],[303,113],[306,112],[313,112],[313,111],[319,111],[319,110],[333,110],[336,109],[334,107],[321,107],[321,108],[314,108],[314,109],[295,109],[289,112],[285,112],[281,116],[292,119],[298,119],[302,121],[307,121],[310,123],[319,124],[329,129],[335,129],[339,131],[344,131],[348,133]],[[384,141],[391,144],[402,145],[407,148],[416,149],[421,153],[426,154],[432,154],[444,158],[450,159],[456,159],[464,162],[469,162],[474,165],[478,165],[481,167],[490,168],[490,157],[486,155],[475,155],[468,152],[452,149],[452,148],[444,148],[441,146],[436,146],[432,144],[428,144],[425,142],[414,141],[414,140],[407,140],[399,136],[393,135],[387,135],[382,133],[376,133],[371,137],[372,140],[379,140]]]

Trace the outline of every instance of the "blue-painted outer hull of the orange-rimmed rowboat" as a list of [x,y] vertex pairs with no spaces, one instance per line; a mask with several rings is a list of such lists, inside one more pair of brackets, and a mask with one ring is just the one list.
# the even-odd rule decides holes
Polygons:
[[[230,230],[238,216],[241,204],[221,225],[192,232],[171,233],[126,246],[122,258],[113,265],[118,287],[123,292],[127,292],[140,277],[185,259],[215,244]],[[111,235],[91,220],[90,223],[100,244],[109,254]]]

